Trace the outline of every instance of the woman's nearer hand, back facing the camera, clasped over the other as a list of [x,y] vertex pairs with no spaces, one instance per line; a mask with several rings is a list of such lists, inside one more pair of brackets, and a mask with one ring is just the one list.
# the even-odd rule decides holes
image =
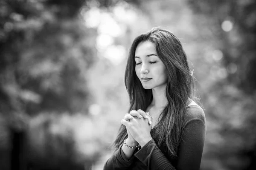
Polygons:
[[[151,119],[152,122],[152,117],[149,113],[147,116],[149,119]],[[130,119],[130,121],[122,119],[121,123],[125,125],[126,128],[128,128],[131,136],[140,144],[141,147],[143,147],[146,143],[148,143],[148,141],[152,139],[150,134],[152,125],[148,124],[148,119],[139,119],[134,117],[133,119]]]

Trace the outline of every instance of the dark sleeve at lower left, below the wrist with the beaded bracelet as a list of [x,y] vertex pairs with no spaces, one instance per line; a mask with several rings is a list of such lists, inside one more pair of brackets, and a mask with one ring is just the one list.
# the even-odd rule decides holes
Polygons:
[[134,155],[130,159],[125,157],[121,144],[104,165],[104,170],[128,170],[134,161]]

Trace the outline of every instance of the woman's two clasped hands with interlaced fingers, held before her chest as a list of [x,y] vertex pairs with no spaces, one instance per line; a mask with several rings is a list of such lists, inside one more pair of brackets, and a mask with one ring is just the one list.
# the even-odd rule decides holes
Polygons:
[[142,147],[152,139],[150,131],[152,128],[152,117],[141,109],[126,113],[121,123],[126,126],[128,138],[132,142],[138,142]]

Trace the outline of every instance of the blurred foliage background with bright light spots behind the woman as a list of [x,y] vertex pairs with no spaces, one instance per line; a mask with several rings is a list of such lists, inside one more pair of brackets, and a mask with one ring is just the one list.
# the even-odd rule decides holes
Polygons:
[[1,0],[0,170],[103,169],[128,110],[128,49],[154,26],[193,63],[201,170],[254,170],[254,0]]

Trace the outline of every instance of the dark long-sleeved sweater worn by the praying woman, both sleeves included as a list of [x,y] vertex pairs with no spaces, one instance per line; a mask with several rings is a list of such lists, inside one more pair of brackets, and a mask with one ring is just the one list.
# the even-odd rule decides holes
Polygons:
[[186,110],[186,121],[177,159],[168,155],[167,148],[159,148],[151,139],[127,159],[119,146],[105,163],[104,170],[199,170],[206,134],[206,120],[200,106],[192,105]]

